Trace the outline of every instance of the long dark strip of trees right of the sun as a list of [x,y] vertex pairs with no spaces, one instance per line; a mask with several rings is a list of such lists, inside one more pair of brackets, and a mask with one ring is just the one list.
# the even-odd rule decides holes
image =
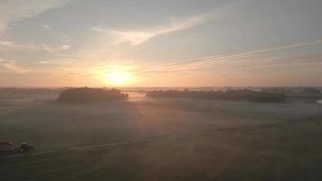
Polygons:
[[256,102],[283,102],[284,94],[268,93],[254,90],[153,90],[147,92],[153,98],[193,98],[206,100],[246,100]]

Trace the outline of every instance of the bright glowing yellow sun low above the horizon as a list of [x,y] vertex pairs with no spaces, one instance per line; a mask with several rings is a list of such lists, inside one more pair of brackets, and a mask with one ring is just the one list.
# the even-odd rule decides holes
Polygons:
[[126,71],[111,71],[106,73],[106,79],[112,85],[121,86],[130,81],[131,76]]

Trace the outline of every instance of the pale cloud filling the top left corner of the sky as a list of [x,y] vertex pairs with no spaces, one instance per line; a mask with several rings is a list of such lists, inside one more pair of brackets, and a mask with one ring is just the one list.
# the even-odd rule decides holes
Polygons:
[[24,18],[33,17],[43,12],[65,5],[70,0],[10,0],[0,1],[0,38],[10,25]]

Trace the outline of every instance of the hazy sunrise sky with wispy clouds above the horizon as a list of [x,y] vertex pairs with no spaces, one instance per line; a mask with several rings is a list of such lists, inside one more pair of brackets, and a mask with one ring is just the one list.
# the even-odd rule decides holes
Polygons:
[[321,9],[321,0],[0,0],[0,86],[322,86]]

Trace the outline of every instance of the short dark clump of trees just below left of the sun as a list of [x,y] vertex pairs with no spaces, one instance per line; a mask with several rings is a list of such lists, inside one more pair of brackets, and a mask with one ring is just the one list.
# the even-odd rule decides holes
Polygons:
[[103,100],[127,100],[128,94],[116,89],[99,88],[70,88],[62,90],[58,96],[58,101],[64,102],[92,102]]

